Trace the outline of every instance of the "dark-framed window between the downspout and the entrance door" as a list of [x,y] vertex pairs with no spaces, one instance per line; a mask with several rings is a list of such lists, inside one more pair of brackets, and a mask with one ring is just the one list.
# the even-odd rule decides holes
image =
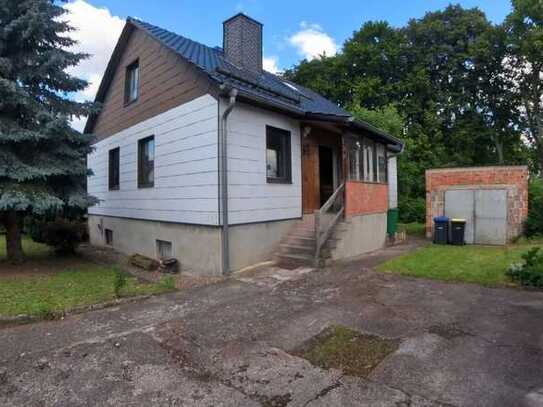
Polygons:
[[266,126],[266,178],[269,183],[290,183],[290,131]]

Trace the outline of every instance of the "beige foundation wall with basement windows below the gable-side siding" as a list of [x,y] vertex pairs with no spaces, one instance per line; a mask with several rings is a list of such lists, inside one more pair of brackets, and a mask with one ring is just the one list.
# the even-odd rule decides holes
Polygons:
[[113,233],[112,247],[126,255],[134,253],[157,258],[157,239],[172,243],[172,257],[183,272],[220,276],[221,229],[109,216],[89,215],[90,243],[106,246],[105,230]]

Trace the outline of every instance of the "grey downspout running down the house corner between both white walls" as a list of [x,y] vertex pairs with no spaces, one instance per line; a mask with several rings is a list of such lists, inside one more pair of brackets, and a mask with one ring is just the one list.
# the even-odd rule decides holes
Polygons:
[[[225,89],[226,90],[226,89]],[[237,89],[230,89],[228,92],[229,100],[226,109],[221,115],[221,126],[219,128],[219,159],[220,159],[220,184],[221,184],[221,209],[222,209],[222,274],[230,272],[230,252],[228,235],[228,155],[227,155],[227,135],[228,135],[228,115],[234,109],[236,104]]]

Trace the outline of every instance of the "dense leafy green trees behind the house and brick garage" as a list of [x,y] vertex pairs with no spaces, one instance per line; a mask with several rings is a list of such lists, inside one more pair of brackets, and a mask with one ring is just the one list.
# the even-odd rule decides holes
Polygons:
[[[399,28],[368,22],[335,57],[302,61],[286,74],[385,130],[387,120],[392,127],[397,122],[390,114],[393,105],[405,124],[400,202],[420,201],[428,168],[526,162],[521,135],[528,114],[518,109],[522,99],[516,83],[540,89],[543,81],[533,81],[532,73],[531,82],[529,78],[522,82],[507,69],[510,65],[504,61],[511,59],[514,30],[505,28],[517,27],[518,36],[511,38],[532,44],[536,50],[524,45],[531,50],[530,66],[540,66],[536,51],[543,47],[528,39],[526,31],[536,36],[533,22],[540,21],[541,2],[515,3],[516,20],[510,17],[505,26],[492,25],[477,8],[459,5],[427,13]],[[526,15],[531,16],[527,21]],[[513,69],[517,76],[519,72]],[[526,94],[532,95],[534,110],[541,92]],[[531,134],[539,131],[531,128]]]

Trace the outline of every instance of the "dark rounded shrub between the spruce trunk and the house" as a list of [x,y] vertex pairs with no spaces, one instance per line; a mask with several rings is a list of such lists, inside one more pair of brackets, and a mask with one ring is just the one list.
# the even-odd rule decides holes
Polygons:
[[53,247],[58,254],[75,253],[85,237],[86,228],[82,222],[66,219],[34,220],[27,225],[32,240]]

